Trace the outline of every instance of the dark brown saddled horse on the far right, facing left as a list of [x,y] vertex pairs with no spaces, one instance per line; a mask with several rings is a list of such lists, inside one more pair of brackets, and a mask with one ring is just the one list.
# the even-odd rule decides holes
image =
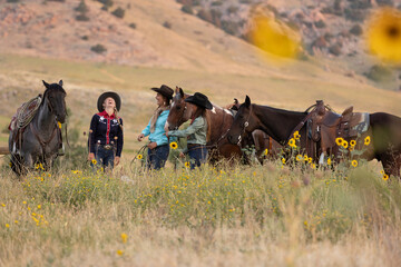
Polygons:
[[[241,105],[235,116],[227,138],[232,144],[237,144],[244,136],[255,129],[261,129],[277,142],[285,145],[292,137],[293,129],[306,116],[307,112],[296,112],[251,103],[250,97],[246,96],[245,102]],[[378,159],[382,162],[387,175],[400,177],[401,118],[384,112],[370,113],[369,117],[369,129],[360,138],[363,140],[370,136],[371,142],[366,146],[361,157],[366,160]],[[300,135],[301,149],[305,150],[307,141],[305,126],[300,129]],[[355,147],[355,149],[359,148],[361,147]],[[316,158],[314,160],[317,161]]]

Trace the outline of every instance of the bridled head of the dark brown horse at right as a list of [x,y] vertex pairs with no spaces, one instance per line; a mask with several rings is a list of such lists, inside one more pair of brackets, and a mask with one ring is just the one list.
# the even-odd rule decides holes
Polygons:
[[238,112],[235,115],[233,125],[228,130],[228,141],[237,145],[245,135],[253,132],[255,129],[257,129],[257,118],[253,113],[251,99],[246,96],[245,102],[239,106]]

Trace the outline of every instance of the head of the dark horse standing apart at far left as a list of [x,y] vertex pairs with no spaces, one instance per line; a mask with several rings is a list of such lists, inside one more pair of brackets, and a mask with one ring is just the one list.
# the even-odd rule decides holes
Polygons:
[[67,117],[66,96],[67,92],[62,88],[62,80],[58,83],[47,83],[43,80],[46,87],[43,93],[43,103],[48,106],[51,113],[56,116],[56,120],[63,123]]

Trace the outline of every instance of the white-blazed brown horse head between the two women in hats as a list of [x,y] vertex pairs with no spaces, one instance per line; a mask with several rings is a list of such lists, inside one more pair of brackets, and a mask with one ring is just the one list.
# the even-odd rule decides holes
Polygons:
[[189,120],[193,109],[185,102],[188,95],[184,93],[182,88],[176,87],[175,96],[172,101],[170,111],[166,121],[166,130],[176,130],[185,121]]

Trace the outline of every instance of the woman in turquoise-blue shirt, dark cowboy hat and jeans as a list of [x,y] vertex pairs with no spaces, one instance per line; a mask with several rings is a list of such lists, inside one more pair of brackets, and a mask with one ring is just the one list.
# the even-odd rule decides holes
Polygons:
[[168,138],[164,129],[168,113],[169,102],[173,99],[174,90],[168,86],[163,85],[160,88],[151,88],[156,91],[156,101],[158,108],[155,110],[147,127],[138,136],[138,141],[149,136],[147,167],[150,169],[160,169],[165,166],[169,147]]

